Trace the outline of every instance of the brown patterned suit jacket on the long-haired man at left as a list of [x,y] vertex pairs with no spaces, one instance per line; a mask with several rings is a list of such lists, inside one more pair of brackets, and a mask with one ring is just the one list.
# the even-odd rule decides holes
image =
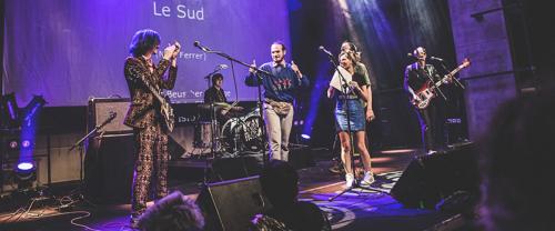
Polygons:
[[[159,92],[161,89],[173,89],[178,76],[178,68],[170,67],[170,61],[162,59],[154,66],[154,71],[150,72],[149,62],[143,57],[128,57],[125,59],[124,74],[131,96],[131,104],[129,106],[125,123],[132,128],[147,128],[147,125],[160,122],[160,103],[158,99],[143,84],[142,79],[145,79]],[[167,79],[163,78],[164,72],[170,68]]]

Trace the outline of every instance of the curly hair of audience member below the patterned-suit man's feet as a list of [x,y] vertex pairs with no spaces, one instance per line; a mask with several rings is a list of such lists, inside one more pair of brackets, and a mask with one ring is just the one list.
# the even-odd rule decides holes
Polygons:
[[147,209],[137,224],[148,231],[196,231],[204,227],[204,218],[192,199],[175,191]]

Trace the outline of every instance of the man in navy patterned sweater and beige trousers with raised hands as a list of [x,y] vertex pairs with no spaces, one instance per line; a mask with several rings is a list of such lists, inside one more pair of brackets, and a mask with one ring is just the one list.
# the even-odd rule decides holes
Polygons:
[[[285,62],[285,44],[276,41],[270,48],[272,61],[262,64],[259,69],[272,76],[256,73],[253,62],[245,78],[246,86],[264,87],[264,121],[270,141],[270,157],[287,161],[289,137],[293,124],[293,100],[299,88],[309,86],[309,78],[301,73],[299,67],[291,61]],[[259,77],[262,80],[259,81]]]

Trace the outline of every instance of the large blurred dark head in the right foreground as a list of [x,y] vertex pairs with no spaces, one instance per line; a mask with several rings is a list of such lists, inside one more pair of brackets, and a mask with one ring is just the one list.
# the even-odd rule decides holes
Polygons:
[[508,101],[492,119],[480,155],[486,231],[555,228],[544,212],[555,205],[548,185],[555,162],[554,106],[555,96],[546,91]]

